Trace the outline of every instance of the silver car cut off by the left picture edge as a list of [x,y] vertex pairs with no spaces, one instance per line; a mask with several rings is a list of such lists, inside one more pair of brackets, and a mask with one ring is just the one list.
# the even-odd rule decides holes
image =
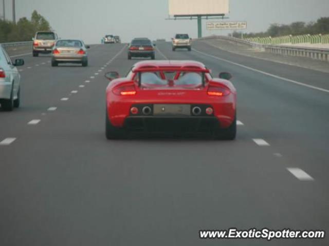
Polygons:
[[9,55],[0,45],[0,104],[5,111],[20,107],[21,75],[16,67],[23,65],[23,59],[16,59],[15,63],[12,63]]

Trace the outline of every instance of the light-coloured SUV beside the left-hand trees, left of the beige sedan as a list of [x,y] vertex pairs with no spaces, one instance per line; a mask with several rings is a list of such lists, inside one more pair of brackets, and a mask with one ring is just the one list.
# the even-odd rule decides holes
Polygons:
[[58,35],[55,32],[41,31],[41,32],[36,32],[35,37],[32,39],[33,39],[32,54],[33,56],[39,56],[40,53],[42,54],[51,53],[54,44],[58,40]]

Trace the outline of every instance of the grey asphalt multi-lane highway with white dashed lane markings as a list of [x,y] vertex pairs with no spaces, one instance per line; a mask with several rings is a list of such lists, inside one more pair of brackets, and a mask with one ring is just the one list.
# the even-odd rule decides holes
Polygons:
[[0,245],[329,245],[329,239],[204,240],[199,230],[329,231],[328,74],[195,42],[157,44],[233,74],[235,141],[105,139],[106,71],[126,45],[95,45],[89,67],[24,56],[22,107],[0,112]]

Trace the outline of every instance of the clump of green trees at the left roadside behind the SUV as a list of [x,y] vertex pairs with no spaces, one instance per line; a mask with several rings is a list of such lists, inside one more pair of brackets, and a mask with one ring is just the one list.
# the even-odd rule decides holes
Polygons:
[[23,17],[16,24],[0,20],[0,30],[0,43],[7,43],[31,41],[36,31],[50,31],[51,27],[45,17],[34,10],[31,20]]

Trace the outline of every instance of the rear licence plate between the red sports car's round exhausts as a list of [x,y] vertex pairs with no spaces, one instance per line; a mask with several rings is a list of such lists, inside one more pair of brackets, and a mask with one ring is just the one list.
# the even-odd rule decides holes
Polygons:
[[187,104],[155,104],[153,106],[153,115],[191,115],[191,105]]

